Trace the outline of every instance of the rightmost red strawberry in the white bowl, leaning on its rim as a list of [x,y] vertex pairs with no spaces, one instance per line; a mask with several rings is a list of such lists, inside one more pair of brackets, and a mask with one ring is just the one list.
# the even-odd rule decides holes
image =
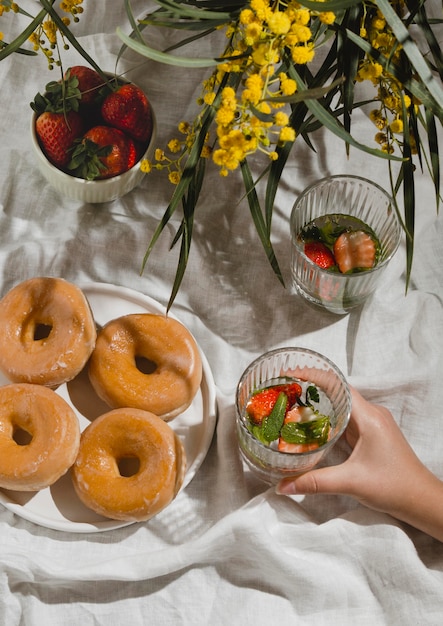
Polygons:
[[151,137],[151,105],[136,85],[122,85],[106,96],[101,112],[107,124],[119,128],[136,141],[146,143]]

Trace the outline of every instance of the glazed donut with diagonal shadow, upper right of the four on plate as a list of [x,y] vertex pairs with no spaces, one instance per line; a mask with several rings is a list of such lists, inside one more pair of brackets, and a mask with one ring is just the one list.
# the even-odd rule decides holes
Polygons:
[[191,404],[202,362],[194,338],[180,322],[133,313],[99,332],[89,378],[111,408],[142,409],[169,421]]

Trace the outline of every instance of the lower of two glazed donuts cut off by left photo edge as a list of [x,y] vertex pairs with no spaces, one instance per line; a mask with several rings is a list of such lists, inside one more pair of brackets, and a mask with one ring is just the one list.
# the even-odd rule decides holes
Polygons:
[[69,404],[41,385],[0,387],[0,487],[39,491],[74,463],[80,426]]

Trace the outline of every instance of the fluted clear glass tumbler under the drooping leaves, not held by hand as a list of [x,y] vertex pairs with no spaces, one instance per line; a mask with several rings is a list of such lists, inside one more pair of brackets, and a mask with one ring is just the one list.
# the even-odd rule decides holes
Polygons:
[[[375,233],[380,253],[374,267],[340,273],[319,267],[304,253],[300,232],[315,218],[342,214],[363,221]],[[358,176],[330,176],[308,187],[291,213],[292,281],[309,302],[332,313],[346,314],[362,305],[380,285],[401,237],[401,225],[390,195]]]

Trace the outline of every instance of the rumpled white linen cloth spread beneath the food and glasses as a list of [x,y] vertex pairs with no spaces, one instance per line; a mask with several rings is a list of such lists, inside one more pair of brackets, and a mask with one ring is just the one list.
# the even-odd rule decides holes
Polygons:
[[[115,27],[126,25],[123,3],[107,9],[95,4],[85,3],[76,32],[101,67],[112,71],[120,48]],[[144,3],[132,4],[141,15]],[[63,58],[66,67],[82,63],[73,50]],[[203,74],[133,54],[118,70],[130,70],[147,91],[158,145],[164,145],[195,111]],[[26,278],[51,275],[130,287],[165,305],[179,216],[143,275],[140,265],[172,187],[152,174],[121,200],[96,206],[54,192],[37,170],[29,136],[29,102],[54,78],[43,58],[16,55],[0,63],[1,295]],[[359,111],[353,117],[356,135],[371,141],[368,119]],[[364,175],[388,188],[385,162],[354,149],[348,160],[344,145],[324,132],[316,137],[316,153],[298,143],[281,181],[273,230],[288,285],[288,218],[303,188],[339,173]],[[420,458],[443,478],[443,223],[432,185],[417,172],[408,294],[403,241],[383,288],[344,317],[314,310],[281,287],[242,197],[239,175],[220,179],[210,168],[189,268],[172,309],[196,336],[217,387],[218,423],[202,467],[154,519],[103,533],[51,530],[0,505],[1,624],[441,623],[441,543],[350,498],[277,496],[242,466],[234,421],[235,387],[253,358],[279,346],[312,348],[331,358],[369,400],[387,406]],[[340,444],[327,462],[347,453]]]

